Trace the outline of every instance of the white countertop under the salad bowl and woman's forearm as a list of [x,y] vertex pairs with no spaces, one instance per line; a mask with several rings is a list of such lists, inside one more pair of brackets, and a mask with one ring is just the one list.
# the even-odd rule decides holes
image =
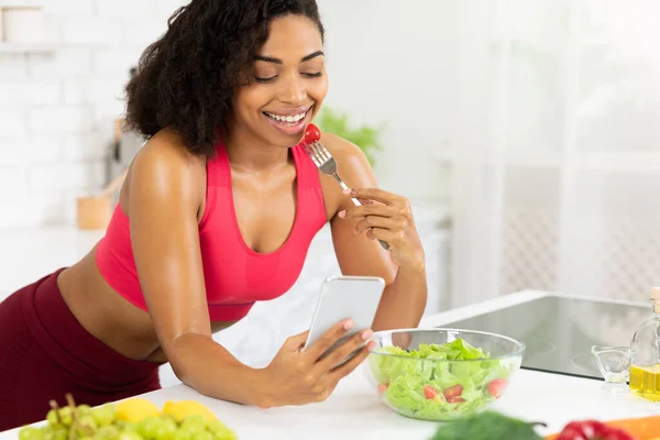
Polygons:
[[[547,295],[524,292],[479,305],[425,318],[422,327],[443,323],[531,300]],[[185,385],[170,386],[144,397],[162,405],[165,400],[196,399],[231,427],[240,439],[406,439],[426,440],[437,425],[407,419],[381,404],[370,388],[364,369],[346,377],[323,403],[301,407],[262,410],[205,397]],[[517,372],[502,399],[493,407],[529,421],[543,421],[548,429],[560,430],[568,421],[581,418],[602,420],[658,414],[660,405],[629,393],[612,395],[603,382],[527,370]],[[0,439],[15,439],[16,430],[0,433]]]

